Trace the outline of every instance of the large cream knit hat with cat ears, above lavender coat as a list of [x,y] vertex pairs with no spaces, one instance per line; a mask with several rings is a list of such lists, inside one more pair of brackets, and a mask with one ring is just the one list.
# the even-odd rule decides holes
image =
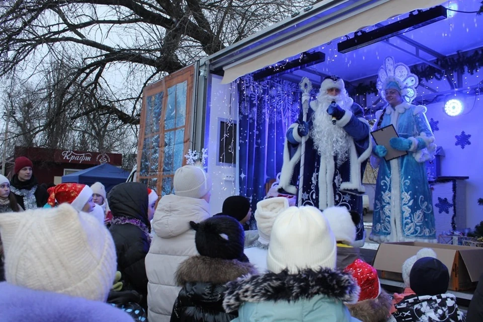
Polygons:
[[69,204],[0,216],[7,282],[105,301],[116,273],[111,233]]

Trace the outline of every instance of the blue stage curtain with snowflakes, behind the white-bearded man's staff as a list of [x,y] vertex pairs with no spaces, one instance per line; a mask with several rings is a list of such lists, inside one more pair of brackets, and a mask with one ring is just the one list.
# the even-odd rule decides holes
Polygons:
[[[255,213],[265,184],[282,169],[287,128],[301,112],[299,85],[278,78],[254,82],[238,79],[239,189],[250,198]],[[256,229],[255,218],[250,228]]]

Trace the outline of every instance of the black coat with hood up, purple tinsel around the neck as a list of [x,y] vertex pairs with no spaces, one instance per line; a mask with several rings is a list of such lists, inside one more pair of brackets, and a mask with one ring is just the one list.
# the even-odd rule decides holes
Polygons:
[[[134,222],[136,219],[150,229],[147,217],[148,194],[144,184],[129,182],[115,186],[108,196],[109,206],[115,218]],[[134,220],[132,220],[134,219]],[[117,270],[124,279],[124,288],[142,295],[141,306],[147,310],[147,276],[144,258],[149,251],[146,233],[136,224],[112,223],[111,231],[117,254]]]

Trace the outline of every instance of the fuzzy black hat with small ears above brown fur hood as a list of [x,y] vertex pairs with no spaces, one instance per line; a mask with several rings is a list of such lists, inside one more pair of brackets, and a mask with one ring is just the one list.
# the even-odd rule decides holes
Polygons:
[[190,225],[196,230],[196,250],[201,256],[225,260],[243,257],[245,231],[236,219],[218,215],[200,223],[190,221]]

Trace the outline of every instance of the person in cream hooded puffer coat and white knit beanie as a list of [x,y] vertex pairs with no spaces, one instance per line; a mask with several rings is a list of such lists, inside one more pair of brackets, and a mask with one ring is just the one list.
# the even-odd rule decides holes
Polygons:
[[150,321],[171,318],[173,303],[181,289],[175,282],[175,272],[188,257],[198,255],[190,221],[211,217],[208,204],[211,185],[210,176],[202,168],[184,166],[175,172],[174,193],[163,196],[157,203],[152,243],[145,261]]

